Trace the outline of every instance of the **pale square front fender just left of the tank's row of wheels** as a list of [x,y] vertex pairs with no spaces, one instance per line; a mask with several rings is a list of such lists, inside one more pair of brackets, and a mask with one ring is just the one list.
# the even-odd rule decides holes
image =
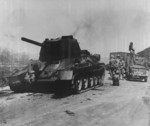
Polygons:
[[59,80],[72,80],[73,71],[72,70],[60,70],[58,71]]

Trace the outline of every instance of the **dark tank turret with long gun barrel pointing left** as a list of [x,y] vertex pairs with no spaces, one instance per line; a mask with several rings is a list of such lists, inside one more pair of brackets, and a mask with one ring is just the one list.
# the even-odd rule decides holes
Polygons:
[[21,40],[40,46],[40,61],[56,61],[80,56],[79,44],[73,36],[62,36],[56,39],[45,39],[43,43],[22,37]]

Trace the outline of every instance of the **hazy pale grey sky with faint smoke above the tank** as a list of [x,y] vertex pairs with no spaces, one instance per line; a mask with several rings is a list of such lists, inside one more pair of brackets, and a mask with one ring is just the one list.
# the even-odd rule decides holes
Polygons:
[[73,35],[81,49],[109,57],[150,47],[150,0],[0,0],[0,47],[38,58],[38,42]]

